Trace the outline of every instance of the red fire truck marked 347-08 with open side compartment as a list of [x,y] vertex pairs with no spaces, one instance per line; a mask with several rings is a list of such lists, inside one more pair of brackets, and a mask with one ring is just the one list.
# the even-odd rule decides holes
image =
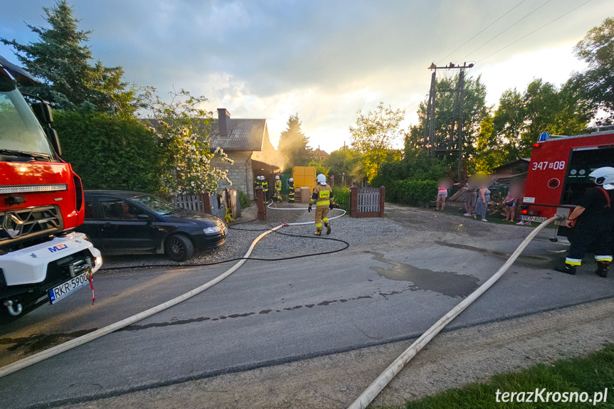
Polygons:
[[[542,222],[557,214],[567,218],[586,188],[595,186],[588,174],[614,167],[613,128],[571,137],[539,135],[526,175],[523,221]],[[566,237],[565,221],[557,225],[558,234]]]

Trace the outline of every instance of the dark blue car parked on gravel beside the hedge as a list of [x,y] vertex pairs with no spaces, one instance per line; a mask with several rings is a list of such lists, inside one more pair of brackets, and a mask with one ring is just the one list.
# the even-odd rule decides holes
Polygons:
[[177,208],[137,191],[84,191],[85,223],[77,228],[105,254],[157,253],[185,261],[194,250],[222,245],[220,218]]

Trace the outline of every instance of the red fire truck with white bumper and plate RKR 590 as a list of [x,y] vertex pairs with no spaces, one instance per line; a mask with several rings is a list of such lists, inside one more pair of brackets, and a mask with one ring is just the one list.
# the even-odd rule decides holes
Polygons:
[[0,323],[91,285],[102,265],[73,231],[83,223],[83,186],[60,159],[51,108],[28,105],[14,78],[33,81],[0,56]]

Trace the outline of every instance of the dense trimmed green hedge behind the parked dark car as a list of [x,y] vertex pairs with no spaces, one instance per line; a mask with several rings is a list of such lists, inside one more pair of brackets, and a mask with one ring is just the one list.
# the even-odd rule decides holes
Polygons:
[[137,119],[75,111],[55,111],[53,119],[63,159],[85,188],[159,191],[162,152]]

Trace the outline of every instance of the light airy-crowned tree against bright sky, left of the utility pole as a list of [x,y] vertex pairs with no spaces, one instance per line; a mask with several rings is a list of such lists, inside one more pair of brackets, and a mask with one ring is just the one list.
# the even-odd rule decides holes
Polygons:
[[356,126],[349,127],[351,146],[362,155],[366,176],[373,180],[379,167],[391,159],[393,144],[403,136],[400,128],[405,117],[404,110],[393,110],[380,102],[376,110],[356,112]]

